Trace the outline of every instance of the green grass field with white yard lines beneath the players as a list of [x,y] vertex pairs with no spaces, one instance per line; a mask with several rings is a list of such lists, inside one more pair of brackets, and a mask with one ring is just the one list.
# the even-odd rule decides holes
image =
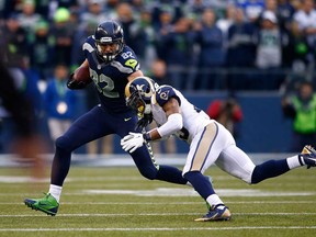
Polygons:
[[[56,216],[23,204],[44,182],[0,168],[0,236],[316,236],[316,169],[300,168],[248,185],[216,167],[206,174],[229,206],[229,222],[196,223],[206,213],[190,187],[145,180],[136,168],[72,167]],[[48,177],[48,171],[47,171]]]

